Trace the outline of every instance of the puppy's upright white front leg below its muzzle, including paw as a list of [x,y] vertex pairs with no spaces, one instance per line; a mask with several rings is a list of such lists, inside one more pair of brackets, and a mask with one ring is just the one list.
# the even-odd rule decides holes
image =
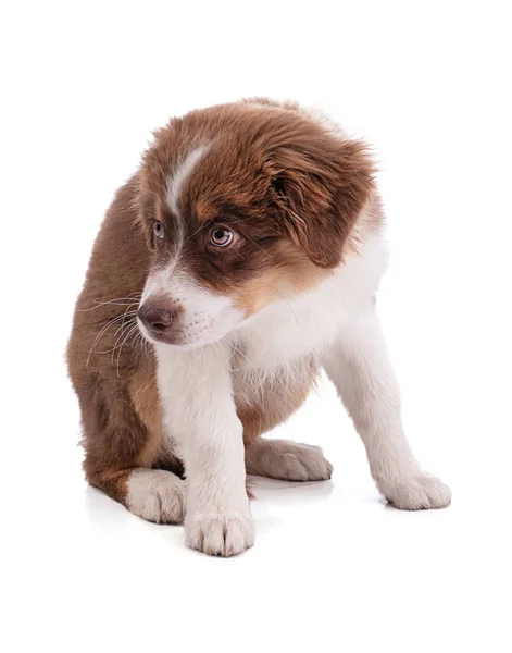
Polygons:
[[187,544],[211,555],[242,553],[254,543],[254,523],[228,353],[218,344],[157,354],[165,431],[185,464]]

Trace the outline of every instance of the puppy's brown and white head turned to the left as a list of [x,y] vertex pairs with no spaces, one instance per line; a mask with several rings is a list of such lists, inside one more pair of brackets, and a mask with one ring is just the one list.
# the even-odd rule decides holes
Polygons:
[[295,108],[237,103],[174,119],[139,173],[152,263],[143,334],[200,346],[340,263],[373,188],[365,146]]

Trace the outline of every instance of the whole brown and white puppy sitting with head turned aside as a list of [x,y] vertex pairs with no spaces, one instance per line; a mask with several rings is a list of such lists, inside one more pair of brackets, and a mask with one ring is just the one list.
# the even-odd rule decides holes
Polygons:
[[118,190],[67,360],[88,481],[192,549],[254,542],[246,473],[330,478],[322,452],[265,440],[321,368],[397,508],[441,508],[400,418],[375,311],[384,215],[366,147],[292,103],[212,107],[159,130]]

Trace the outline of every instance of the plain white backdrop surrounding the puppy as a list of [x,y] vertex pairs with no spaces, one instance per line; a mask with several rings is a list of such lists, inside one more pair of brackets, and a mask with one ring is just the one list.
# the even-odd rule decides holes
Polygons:
[[[511,650],[509,4],[2,3],[4,651]],[[325,383],[279,435],[321,444],[333,481],[259,481],[257,545],[223,560],[86,486],[63,353],[150,131],[255,95],[374,146],[383,323],[409,438],[453,504],[385,507]]]

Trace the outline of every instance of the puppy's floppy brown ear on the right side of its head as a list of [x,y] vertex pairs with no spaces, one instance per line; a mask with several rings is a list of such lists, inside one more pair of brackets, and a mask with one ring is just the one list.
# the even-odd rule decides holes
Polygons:
[[273,204],[285,233],[317,266],[337,266],[374,187],[366,146],[316,135],[276,148],[267,163]]

